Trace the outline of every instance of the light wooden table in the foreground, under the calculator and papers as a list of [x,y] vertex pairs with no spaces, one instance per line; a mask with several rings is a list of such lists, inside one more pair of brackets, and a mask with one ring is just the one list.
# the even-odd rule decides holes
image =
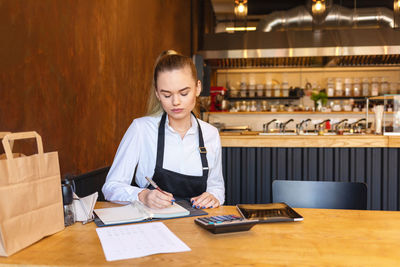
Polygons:
[[[110,206],[98,203],[98,206]],[[114,266],[399,266],[400,212],[296,209],[302,222],[258,224],[250,231],[211,234],[193,218],[164,223],[192,251],[107,262],[96,225],[76,223],[2,264]],[[211,215],[237,214],[232,206]]]

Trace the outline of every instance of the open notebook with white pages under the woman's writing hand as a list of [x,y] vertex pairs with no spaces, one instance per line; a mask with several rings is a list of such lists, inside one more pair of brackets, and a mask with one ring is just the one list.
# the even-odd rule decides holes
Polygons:
[[177,203],[165,209],[151,209],[139,201],[121,207],[95,209],[94,212],[104,225],[133,223],[154,218],[176,218],[190,214],[189,210]]

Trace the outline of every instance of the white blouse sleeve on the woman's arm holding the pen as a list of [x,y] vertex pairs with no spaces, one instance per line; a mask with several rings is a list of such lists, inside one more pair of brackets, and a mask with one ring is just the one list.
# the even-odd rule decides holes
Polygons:
[[108,172],[102,192],[106,200],[133,201],[143,189],[131,186],[135,167],[140,157],[140,132],[135,121],[126,131]]

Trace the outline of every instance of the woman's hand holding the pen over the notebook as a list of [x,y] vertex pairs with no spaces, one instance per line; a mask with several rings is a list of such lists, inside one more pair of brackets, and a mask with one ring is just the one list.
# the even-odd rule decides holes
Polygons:
[[174,196],[171,193],[165,191],[164,193],[146,188],[139,193],[138,198],[149,208],[164,209],[171,206],[174,200]]

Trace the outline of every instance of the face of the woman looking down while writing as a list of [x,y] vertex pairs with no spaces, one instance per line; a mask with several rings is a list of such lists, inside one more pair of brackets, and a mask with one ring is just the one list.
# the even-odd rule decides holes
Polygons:
[[201,83],[193,79],[188,66],[158,74],[156,95],[170,121],[190,118],[200,92]]

